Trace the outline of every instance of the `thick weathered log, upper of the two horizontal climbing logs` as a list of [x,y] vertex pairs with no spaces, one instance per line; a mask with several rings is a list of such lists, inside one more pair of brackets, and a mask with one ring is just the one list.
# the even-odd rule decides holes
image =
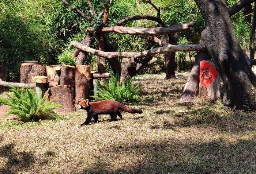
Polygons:
[[163,35],[163,34],[187,31],[193,25],[194,25],[193,22],[188,22],[188,23],[177,24],[169,27],[156,27],[156,28],[135,28],[135,27],[112,26],[112,27],[103,27],[101,30],[97,30],[97,31],[94,31],[93,28],[90,27],[90,28],[87,28],[87,31],[90,33],[114,32],[118,34],[131,34],[131,35]]

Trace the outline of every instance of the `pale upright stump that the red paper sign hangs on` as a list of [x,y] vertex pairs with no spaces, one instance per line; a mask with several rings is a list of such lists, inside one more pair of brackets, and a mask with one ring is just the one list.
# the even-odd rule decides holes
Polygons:
[[[202,69],[201,68],[202,62],[203,61],[200,61],[200,69]],[[208,62],[216,70],[216,67],[213,61],[206,61],[206,62]],[[199,76],[202,76],[202,74],[200,74]],[[206,98],[210,101],[216,101],[219,98],[221,98],[221,77],[219,73],[214,78],[214,80],[207,86],[207,88],[204,87],[204,85],[201,82],[199,82],[198,96],[200,98]]]

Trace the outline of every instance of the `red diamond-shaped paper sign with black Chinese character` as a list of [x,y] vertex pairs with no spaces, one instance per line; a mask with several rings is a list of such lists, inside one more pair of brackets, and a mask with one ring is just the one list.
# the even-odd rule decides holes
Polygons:
[[211,66],[210,63],[202,61],[200,65],[200,82],[207,88],[208,85],[218,75],[218,72]]

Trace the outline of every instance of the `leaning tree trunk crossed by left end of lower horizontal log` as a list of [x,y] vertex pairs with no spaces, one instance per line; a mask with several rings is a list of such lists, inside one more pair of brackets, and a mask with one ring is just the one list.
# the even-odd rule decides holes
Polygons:
[[[88,47],[91,47],[93,45],[95,39],[95,35],[93,33],[88,33],[84,40],[82,40],[82,44],[86,45]],[[80,49],[76,49],[75,52],[73,53],[72,57],[76,58],[76,65],[83,65],[84,62],[86,61],[88,53],[85,51],[82,51]],[[88,60],[90,62],[90,60]]]

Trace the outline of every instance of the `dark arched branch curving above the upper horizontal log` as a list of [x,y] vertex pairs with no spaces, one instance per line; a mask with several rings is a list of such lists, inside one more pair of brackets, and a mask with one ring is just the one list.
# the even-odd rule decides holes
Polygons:
[[141,20],[141,19],[152,20],[152,21],[155,21],[155,22],[159,23],[162,27],[166,27],[165,23],[162,21],[161,18],[157,18],[155,16],[149,16],[149,15],[129,16],[129,17],[123,18],[120,21],[118,21],[115,24],[115,26],[121,26],[124,23],[130,22],[130,21],[133,21],[133,20]]

